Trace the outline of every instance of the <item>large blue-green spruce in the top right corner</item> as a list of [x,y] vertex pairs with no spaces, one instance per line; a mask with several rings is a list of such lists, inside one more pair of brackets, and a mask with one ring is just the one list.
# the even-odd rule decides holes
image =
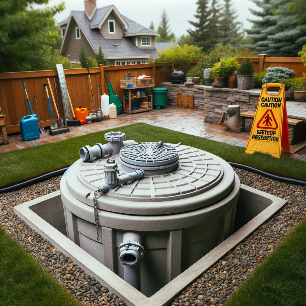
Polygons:
[[[252,0],[255,2],[255,0]],[[249,47],[269,56],[297,56],[306,43],[306,28],[295,13],[289,12],[291,0],[256,0],[261,11],[252,11],[259,21],[248,32],[254,43]]]

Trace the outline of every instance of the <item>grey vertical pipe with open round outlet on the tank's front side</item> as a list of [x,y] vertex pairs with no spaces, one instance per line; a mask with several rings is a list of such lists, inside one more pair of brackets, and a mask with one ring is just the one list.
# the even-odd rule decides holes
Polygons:
[[123,234],[123,243],[118,248],[119,259],[123,264],[124,280],[138,291],[141,289],[140,263],[145,252],[140,242],[140,234],[126,232]]

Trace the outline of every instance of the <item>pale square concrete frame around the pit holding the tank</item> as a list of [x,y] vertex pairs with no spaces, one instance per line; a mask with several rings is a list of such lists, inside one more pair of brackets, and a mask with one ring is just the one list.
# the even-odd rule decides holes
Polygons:
[[[288,203],[286,200],[246,185],[241,185],[241,193],[243,194],[243,198],[241,199],[242,201],[249,199],[249,196],[251,196],[256,200],[256,203],[259,203],[259,206],[264,205],[263,203],[271,204],[268,204],[268,206],[265,204],[264,207],[267,207],[259,214],[257,214],[256,209],[255,211],[253,210],[253,213],[257,215],[252,218],[252,220],[242,226],[239,230],[233,233],[233,235],[215,247],[211,252],[203,256],[200,260],[162,287],[151,297],[144,296],[144,294],[133,288],[117,274],[105,267],[97,259],[89,255],[64,234],[59,232],[47,221],[32,211],[31,207],[42,202],[50,204],[57,203],[58,205],[58,203],[60,203],[59,201],[61,201],[60,190],[17,205],[14,207],[14,212],[19,218],[24,220],[28,226],[50,241],[58,250],[69,256],[87,274],[94,276],[103,286],[108,287],[110,291],[121,297],[128,306],[166,306],[170,304],[171,301],[174,300],[174,298],[177,297],[177,295],[190,283],[222,259],[233,248],[235,248],[237,244],[277,214],[277,212]],[[244,199],[245,196],[246,198]]]

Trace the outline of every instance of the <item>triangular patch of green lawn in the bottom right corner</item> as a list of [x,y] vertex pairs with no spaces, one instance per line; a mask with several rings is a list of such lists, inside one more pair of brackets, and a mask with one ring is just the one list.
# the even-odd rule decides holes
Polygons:
[[260,264],[225,306],[306,305],[306,220]]

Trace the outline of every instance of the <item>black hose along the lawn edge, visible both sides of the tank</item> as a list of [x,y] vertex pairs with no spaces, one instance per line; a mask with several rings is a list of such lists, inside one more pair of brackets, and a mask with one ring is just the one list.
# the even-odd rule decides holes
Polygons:
[[[247,170],[247,171],[250,171],[250,172],[253,172],[253,173],[256,173],[256,174],[260,174],[264,177],[271,178],[272,180],[275,180],[275,181],[280,181],[280,182],[284,182],[284,183],[288,183],[288,184],[294,184],[294,185],[300,185],[300,186],[306,186],[306,181],[296,180],[294,178],[288,178],[288,177],[281,177],[281,176],[271,174],[271,173],[268,173],[268,172],[250,167],[250,166],[241,165],[241,164],[238,164],[236,162],[228,162],[228,163],[232,167],[242,169],[242,170]],[[32,178],[28,181],[24,181],[24,182],[16,184],[16,185],[0,188],[0,193],[12,192],[12,191],[18,190],[20,188],[24,188],[26,186],[29,186],[29,185],[47,180],[51,177],[63,174],[67,169],[68,169],[68,167],[62,168],[62,169],[59,169],[59,170],[56,170],[56,171],[53,171],[53,172],[50,172],[50,173],[47,173],[47,174],[40,175],[38,177]]]

